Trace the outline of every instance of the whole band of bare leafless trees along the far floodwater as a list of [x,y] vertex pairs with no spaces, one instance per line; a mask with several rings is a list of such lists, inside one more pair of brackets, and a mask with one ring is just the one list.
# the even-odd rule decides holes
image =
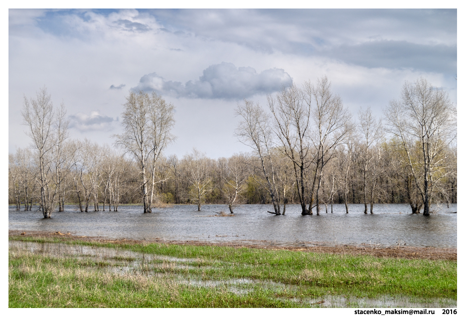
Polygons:
[[243,100],[236,108],[238,139],[250,153],[210,159],[196,149],[164,156],[174,106],[157,95],[130,92],[123,133],[113,146],[69,140],[64,105],[54,107],[46,88],[24,98],[29,148],[9,154],[9,203],[36,205],[45,218],[58,206],[118,211],[142,203],[144,212],[164,204],[287,204],[301,213],[333,211],[333,204],[409,203],[430,214],[433,203],[457,201],[456,107],[443,89],[420,78],[405,83],[384,118],[370,108],[353,118],[326,77],[284,87],[267,106]]

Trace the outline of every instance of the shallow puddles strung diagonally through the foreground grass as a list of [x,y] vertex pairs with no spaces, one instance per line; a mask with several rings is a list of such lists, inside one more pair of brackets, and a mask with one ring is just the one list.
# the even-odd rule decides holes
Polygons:
[[[75,259],[99,260],[109,264],[108,267],[102,268],[110,273],[118,275],[126,274],[143,274],[148,277],[175,278],[176,283],[203,288],[225,288],[229,292],[237,295],[245,295],[255,288],[267,289],[271,292],[280,292],[283,290],[297,290],[296,285],[287,285],[273,281],[262,281],[253,279],[231,279],[224,281],[217,280],[200,280],[195,278],[186,278],[184,275],[173,273],[159,273],[156,269],[172,270],[197,270],[197,263],[203,263],[200,259],[176,258],[161,256],[155,254],[139,253],[118,248],[103,248],[95,246],[67,245],[60,243],[37,243],[23,241],[8,241],[10,252],[26,251],[44,256]],[[161,261],[161,262],[160,262]],[[212,267],[202,266],[201,268],[213,269]],[[220,269],[220,268],[219,268]],[[303,287],[303,286],[301,286]],[[430,299],[423,300],[403,296],[382,296],[378,298],[359,298],[354,296],[329,295],[319,298],[279,298],[281,301],[293,301],[310,305],[311,307],[325,308],[456,308],[457,301],[451,299]],[[322,303],[323,302],[323,303]]]

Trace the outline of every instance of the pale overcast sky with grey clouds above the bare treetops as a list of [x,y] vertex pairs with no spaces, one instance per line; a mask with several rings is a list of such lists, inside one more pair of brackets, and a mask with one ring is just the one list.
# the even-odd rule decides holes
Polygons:
[[9,9],[8,24],[9,153],[29,144],[23,99],[44,86],[71,138],[108,144],[130,90],[156,91],[176,108],[178,157],[249,151],[236,105],[324,75],[354,119],[421,76],[457,101],[456,9]]

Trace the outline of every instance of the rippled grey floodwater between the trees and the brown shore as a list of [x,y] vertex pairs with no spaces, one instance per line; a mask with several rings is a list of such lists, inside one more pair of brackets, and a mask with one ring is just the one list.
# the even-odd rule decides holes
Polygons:
[[429,217],[413,215],[407,204],[377,204],[374,214],[365,215],[364,206],[333,205],[333,213],[302,216],[299,205],[288,205],[285,216],[267,213],[271,205],[242,205],[234,217],[226,205],[173,205],[144,214],[141,206],[121,206],[118,212],[82,213],[77,206],[66,206],[51,219],[40,212],[8,208],[8,229],[21,231],[70,232],[77,236],[111,239],[194,240],[241,242],[279,246],[380,245],[418,247],[457,247],[457,205],[434,205]]

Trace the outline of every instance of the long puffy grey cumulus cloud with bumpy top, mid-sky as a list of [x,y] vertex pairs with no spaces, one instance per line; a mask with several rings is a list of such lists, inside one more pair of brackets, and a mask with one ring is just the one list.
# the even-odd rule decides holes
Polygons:
[[280,68],[257,73],[252,67],[236,67],[232,63],[210,65],[203,70],[199,80],[166,81],[156,73],[141,77],[132,90],[157,91],[174,97],[242,99],[256,94],[267,94],[291,85],[293,79]]

